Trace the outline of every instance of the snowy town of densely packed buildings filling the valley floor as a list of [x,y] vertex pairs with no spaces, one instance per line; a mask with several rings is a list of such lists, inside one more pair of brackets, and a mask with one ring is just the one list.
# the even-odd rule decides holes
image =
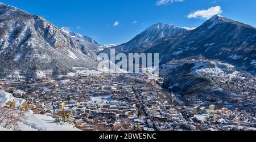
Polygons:
[[229,110],[225,102],[189,105],[162,83],[144,74],[100,73],[2,79],[0,90],[26,100],[20,110],[51,115],[84,131],[256,130],[255,104],[251,110]]

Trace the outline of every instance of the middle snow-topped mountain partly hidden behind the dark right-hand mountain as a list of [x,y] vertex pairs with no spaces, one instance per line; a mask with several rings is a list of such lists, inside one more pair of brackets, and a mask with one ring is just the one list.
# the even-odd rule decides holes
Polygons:
[[[154,45],[155,41],[158,41],[163,37],[181,35],[187,31],[190,31],[190,29],[176,27],[175,25],[170,24],[157,23],[148,27],[129,42],[114,46],[113,48],[117,53],[142,53]],[[111,48],[105,49],[101,51],[101,53],[109,53],[110,49]]]

